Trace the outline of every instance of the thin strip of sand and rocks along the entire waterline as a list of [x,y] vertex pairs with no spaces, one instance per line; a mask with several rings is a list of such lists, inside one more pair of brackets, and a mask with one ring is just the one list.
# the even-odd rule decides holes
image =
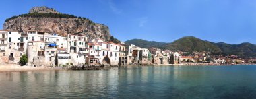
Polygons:
[[[123,65],[129,66],[226,66],[226,65],[255,65],[255,64],[216,64],[216,63],[181,63],[181,64],[166,64],[166,65]],[[20,65],[0,65],[1,72],[18,72],[18,71],[51,71],[51,70],[108,70],[113,67],[110,65],[73,65],[69,67],[31,67]]]

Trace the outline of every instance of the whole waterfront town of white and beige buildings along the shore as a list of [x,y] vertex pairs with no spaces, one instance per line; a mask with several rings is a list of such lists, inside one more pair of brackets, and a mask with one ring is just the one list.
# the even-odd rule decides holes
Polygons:
[[[65,65],[218,65],[254,63],[236,55],[211,55],[207,52],[187,52],[140,48],[124,42],[115,44],[83,34],[59,36],[55,33],[0,30],[1,64],[18,64],[27,55],[30,66]],[[186,55],[186,56],[185,56]]]

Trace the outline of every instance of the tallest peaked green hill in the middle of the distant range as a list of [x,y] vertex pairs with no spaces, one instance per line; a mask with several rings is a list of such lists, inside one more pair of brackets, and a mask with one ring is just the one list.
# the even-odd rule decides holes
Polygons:
[[174,42],[167,44],[166,49],[172,51],[210,51],[214,53],[220,53],[221,50],[215,44],[195,38],[193,36],[186,36],[175,40]]

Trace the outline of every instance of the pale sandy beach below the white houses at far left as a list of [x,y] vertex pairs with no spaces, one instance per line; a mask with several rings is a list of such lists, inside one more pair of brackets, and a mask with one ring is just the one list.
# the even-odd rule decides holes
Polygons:
[[0,65],[0,72],[15,72],[15,71],[44,71],[54,70],[51,67],[30,67],[20,65]]

